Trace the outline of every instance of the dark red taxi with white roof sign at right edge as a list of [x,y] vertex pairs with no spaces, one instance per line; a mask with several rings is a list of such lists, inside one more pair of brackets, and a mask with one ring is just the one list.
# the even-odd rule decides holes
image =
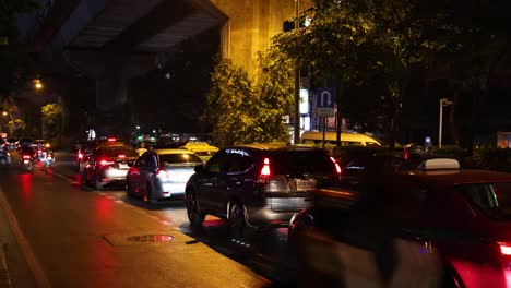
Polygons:
[[[318,192],[317,205],[293,217],[288,240],[299,263],[320,257],[301,253],[311,251],[318,235],[334,239],[337,248],[370,250],[377,257],[387,253],[388,259],[400,257],[400,239],[416,244],[424,255],[438,256],[441,287],[511,286],[511,173],[461,169],[455,159],[437,158],[376,177],[367,189],[358,195],[337,193],[335,201]],[[318,203],[337,205],[324,208]],[[378,248],[384,239],[391,245],[382,251]],[[335,261],[338,265],[332,269],[341,276],[346,263]]]

